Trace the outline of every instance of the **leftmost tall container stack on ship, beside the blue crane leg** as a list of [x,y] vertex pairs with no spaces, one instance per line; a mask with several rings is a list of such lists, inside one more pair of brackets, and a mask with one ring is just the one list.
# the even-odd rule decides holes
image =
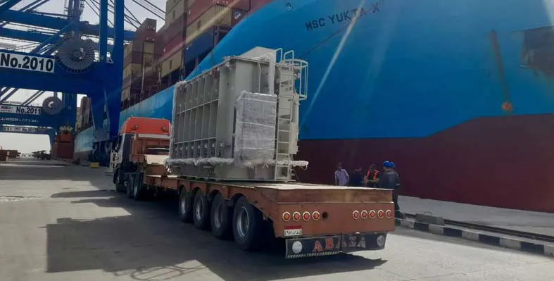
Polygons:
[[144,20],[135,35],[125,46],[123,55],[122,109],[139,103],[157,90],[156,20]]

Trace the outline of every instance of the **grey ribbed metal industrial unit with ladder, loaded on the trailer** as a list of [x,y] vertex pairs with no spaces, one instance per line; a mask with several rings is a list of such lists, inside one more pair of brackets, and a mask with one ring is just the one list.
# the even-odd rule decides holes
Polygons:
[[256,48],[175,86],[173,174],[286,182],[292,166],[308,165],[292,159],[307,63],[289,55]]

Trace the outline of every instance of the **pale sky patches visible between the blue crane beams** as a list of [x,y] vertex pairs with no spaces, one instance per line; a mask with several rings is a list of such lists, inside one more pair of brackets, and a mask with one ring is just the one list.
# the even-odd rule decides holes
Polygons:
[[[23,7],[26,4],[29,4],[31,1],[32,0],[23,0],[20,2],[20,4],[15,6],[15,8]],[[37,11],[42,11],[46,13],[65,13],[62,8],[63,6],[65,6],[65,2],[67,2],[67,0],[50,0],[48,3],[38,8]],[[150,0],[150,2],[158,6],[160,9],[165,10],[165,0]],[[94,1],[89,1],[89,3],[94,3]],[[157,25],[158,29],[162,27],[163,20],[160,20],[160,18],[157,18],[156,16],[152,15],[149,11],[144,10],[144,8],[141,8],[133,1],[127,0],[125,1],[125,4],[127,8],[140,21],[143,21],[146,18],[153,18],[158,21],[158,25]],[[110,17],[111,16],[112,15],[110,15]],[[82,20],[89,21],[89,23],[92,23],[92,24],[99,22],[98,15],[96,15],[96,13],[94,13],[94,11],[92,11],[91,8],[89,8],[89,6],[87,5],[84,6],[84,14],[83,14]],[[126,29],[134,30],[134,27],[127,25]],[[13,42],[10,39],[0,39],[0,42],[18,44],[18,45],[25,44],[21,42]],[[32,91],[32,90],[22,89],[18,91],[16,94],[14,94],[11,97],[11,99],[9,99],[9,101],[25,101],[25,99],[29,98],[34,92],[35,91]],[[52,95],[53,93],[51,92],[43,94],[33,104],[34,105],[42,104],[42,101],[44,101],[44,99]],[[80,99],[82,98],[82,96],[83,95],[77,96],[77,105],[80,104]],[[18,149],[19,151],[23,151],[23,152],[37,151],[37,150],[49,151],[50,149],[48,136],[46,135],[24,135],[24,134],[13,134],[13,133],[2,133],[2,132],[0,132],[0,146],[2,146],[4,149]]]

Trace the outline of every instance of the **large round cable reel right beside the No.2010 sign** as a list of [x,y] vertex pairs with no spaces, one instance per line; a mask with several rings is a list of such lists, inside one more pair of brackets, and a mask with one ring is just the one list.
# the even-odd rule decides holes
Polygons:
[[86,73],[94,63],[94,44],[89,39],[70,37],[58,47],[56,58],[69,73]]

